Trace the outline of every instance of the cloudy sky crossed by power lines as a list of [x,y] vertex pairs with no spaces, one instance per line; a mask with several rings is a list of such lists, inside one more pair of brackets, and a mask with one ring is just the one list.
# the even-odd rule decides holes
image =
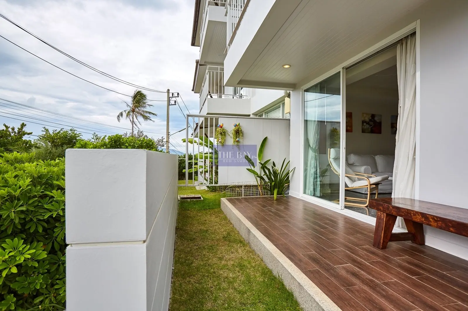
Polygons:
[[[198,96],[191,92],[198,56],[198,48],[190,46],[193,7],[194,0],[0,0],[1,14],[57,48],[135,85],[180,92],[190,113],[197,113]],[[0,35],[95,84],[128,95],[135,90],[61,55],[4,19],[0,19]],[[148,133],[149,136],[161,137],[166,131],[166,94],[146,94],[148,99],[161,101],[153,102],[152,111],[158,114],[155,122],[147,122],[141,129],[155,132]],[[60,71],[1,37],[0,98],[130,128],[129,121],[116,120],[117,113],[125,108],[123,100],[128,97]],[[183,113],[187,113],[182,101],[179,102]],[[1,124],[17,126],[24,120],[33,134],[39,134],[44,125],[50,129],[81,127],[79,131],[85,138],[97,131],[99,134],[126,131],[7,104],[12,105],[0,100]],[[170,131],[174,133],[185,127],[185,119],[177,106],[170,109]],[[179,149],[182,137],[185,132],[171,136]]]

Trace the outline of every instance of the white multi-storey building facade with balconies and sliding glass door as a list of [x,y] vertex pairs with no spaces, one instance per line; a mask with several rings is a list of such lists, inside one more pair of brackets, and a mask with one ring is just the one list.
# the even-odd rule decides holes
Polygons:
[[[375,169],[393,179],[389,196],[467,208],[467,20],[465,0],[197,0],[200,113],[290,118],[294,197],[375,223],[345,209],[343,176],[363,165],[353,155],[382,155],[397,163]],[[211,66],[222,73],[206,87]],[[226,102],[210,110],[215,97]],[[341,178],[326,170],[331,149]],[[424,231],[468,259],[467,238]]]

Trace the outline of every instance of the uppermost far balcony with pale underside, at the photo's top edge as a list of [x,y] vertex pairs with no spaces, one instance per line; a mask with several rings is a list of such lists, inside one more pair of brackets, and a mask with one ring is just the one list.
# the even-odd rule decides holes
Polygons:
[[222,65],[226,49],[226,1],[207,0],[199,28],[200,64]]

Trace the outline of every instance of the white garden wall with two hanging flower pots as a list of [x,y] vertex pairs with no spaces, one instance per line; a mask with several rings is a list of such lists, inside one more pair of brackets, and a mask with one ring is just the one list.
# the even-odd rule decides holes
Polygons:
[[[234,123],[241,123],[244,133],[241,143],[244,145],[257,145],[257,152],[263,138],[268,141],[263,150],[263,160],[271,159],[281,166],[283,159],[289,160],[289,120],[265,118],[232,118],[220,117],[219,123],[224,123],[228,132]],[[226,137],[226,143],[232,144],[232,138]],[[220,166],[218,168],[219,184],[255,182],[255,178],[246,170],[249,166]],[[290,166],[292,168],[293,166]]]

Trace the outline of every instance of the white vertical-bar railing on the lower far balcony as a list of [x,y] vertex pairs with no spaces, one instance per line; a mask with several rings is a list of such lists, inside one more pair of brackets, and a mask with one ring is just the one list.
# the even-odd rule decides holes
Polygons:
[[208,66],[200,91],[200,112],[207,98],[247,98],[239,88],[224,86],[224,67]]

